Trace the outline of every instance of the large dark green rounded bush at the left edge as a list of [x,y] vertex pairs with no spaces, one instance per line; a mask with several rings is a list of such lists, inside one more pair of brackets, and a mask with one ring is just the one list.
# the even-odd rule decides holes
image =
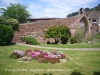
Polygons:
[[13,29],[11,26],[0,24],[0,45],[8,45],[13,39]]

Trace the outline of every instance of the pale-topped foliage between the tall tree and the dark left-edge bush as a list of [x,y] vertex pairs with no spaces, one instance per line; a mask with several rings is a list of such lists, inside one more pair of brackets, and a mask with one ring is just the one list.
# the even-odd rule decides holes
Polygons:
[[11,26],[14,31],[19,30],[19,22],[16,19],[0,17],[0,24]]

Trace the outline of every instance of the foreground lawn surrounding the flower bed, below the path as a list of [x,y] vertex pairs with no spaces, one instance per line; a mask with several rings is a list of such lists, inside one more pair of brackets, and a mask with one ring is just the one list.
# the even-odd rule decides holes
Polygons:
[[0,75],[100,75],[100,51],[63,51],[69,60],[57,64],[19,61],[9,57],[13,50],[25,51],[28,48],[0,46]]

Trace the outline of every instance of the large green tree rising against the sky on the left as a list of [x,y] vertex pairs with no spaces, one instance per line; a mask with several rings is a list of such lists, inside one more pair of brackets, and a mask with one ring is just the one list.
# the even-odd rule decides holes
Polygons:
[[29,12],[26,10],[26,8],[26,6],[21,5],[19,3],[10,3],[10,6],[8,6],[6,9],[2,8],[2,16],[6,18],[14,18],[17,19],[20,23],[24,23],[27,21],[27,18],[31,16]]

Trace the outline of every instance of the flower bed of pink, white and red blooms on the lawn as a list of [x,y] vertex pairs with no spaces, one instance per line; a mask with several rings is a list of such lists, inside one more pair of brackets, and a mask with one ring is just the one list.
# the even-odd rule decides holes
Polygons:
[[43,63],[60,63],[60,59],[65,59],[66,56],[62,51],[42,51],[35,49],[32,51],[31,49],[27,49],[25,52],[20,50],[14,50],[10,55],[11,58],[20,59],[23,61],[31,61],[37,60],[38,62]]

